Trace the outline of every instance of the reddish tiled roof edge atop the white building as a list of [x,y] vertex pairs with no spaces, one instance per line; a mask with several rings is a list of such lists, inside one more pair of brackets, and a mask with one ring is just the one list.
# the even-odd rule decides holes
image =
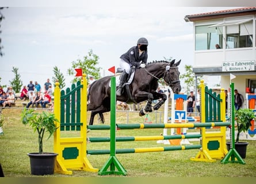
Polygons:
[[185,16],[186,22],[202,21],[215,18],[235,17],[235,16],[247,16],[256,14],[256,7],[239,7],[236,9],[212,11],[207,13],[199,13]]

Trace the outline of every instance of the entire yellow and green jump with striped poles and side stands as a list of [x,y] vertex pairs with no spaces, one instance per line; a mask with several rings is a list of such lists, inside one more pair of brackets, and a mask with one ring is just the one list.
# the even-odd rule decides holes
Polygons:
[[[196,158],[192,160],[214,162],[216,159],[224,158],[227,154],[226,150],[226,127],[230,126],[230,122],[225,121],[225,110],[221,112],[215,112],[215,109],[225,109],[224,89],[221,89],[221,99],[209,98],[206,90],[207,87],[203,86],[201,82],[201,120],[202,122],[196,123],[177,123],[177,124],[116,124],[116,80],[113,76],[111,78],[111,113],[110,113],[110,125],[88,125],[87,129],[93,130],[108,130],[110,129],[109,137],[87,137],[86,129],[86,105],[87,105],[87,81],[85,74],[82,76],[81,83],[77,83],[77,87],[73,84],[70,89],[61,91],[59,89],[59,83],[57,82],[55,87],[55,116],[60,120],[60,123],[56,122],[56,126],[59,127],[54,135],[54,151],[59,155],[56,158],[55,172],[62,174],[72,174],[72,170],[85,170],[91,172],[97,172],[97,168],[91,166],[87,155],[98,154],[110,154],[109,159],[104,166],[98,171],[99,175],[107,174],[119,174],[127,175],[127,171],[121,165],[116,158],[116,154],[127,153],[142,153],[142,152],[159,152],[159,151],[173,151],[173,150],[190,150],[200,149]],[[206,92],[205,92],[206,91]],[[210,90],[211,91],[211,90]],[[210,94],[209,94],[210,95]],[[206,102],[209,99],[209,103]],[[214,101],[214,102],[213,102]],[[216,103],[215,103],[216,101]],[[211,104],[212,102],[212,104]],[[222,103],[222,104],[221,104]],[[223,105],[224,104],[224,105]],[[205,110],[204,110],[205,107]],[[213,112],[205,113],[205,112]],[[234,116],[232,116],[234,119]],[[205,121],[212,120],[212,121]],[[215,121],[215,122],[214,122]],[[206,128],[220,127],[221,131],[217,133],[206,132]],[[234,128],[234,122],[232,122],[232,128]],[[198,135],[164,135],[164,136],[134,136],[134,137],[116,137],[116,128],[118,129],[147,129],[147,128],[201,128],[201,134]],[[79,137],[66,137],[61,136],[61,132],[67,131],[79,131]],[[234,133],[232,132],[232,135]],[[198,145],[178,145],[169,147],[152,147],[152,148],[128,148],[117,149],[116,141],[147,141],[147,140],[171,140],[171,139],[192,139],[200,138],[201,144]],[[109,142],[110,150],[86,150],[86,141],[91,143],[96,142]],[[232,140],[231,140],[232,142]],[[225,145],[224,145],[225,144]],[[231,158],[226,158],[221,163],[227,163],[229,160],[235,162],[235,158],[239,158],[233,154],[236,152],[234,146],[231,144]],[[239,158],[240,160],[240,158]]]

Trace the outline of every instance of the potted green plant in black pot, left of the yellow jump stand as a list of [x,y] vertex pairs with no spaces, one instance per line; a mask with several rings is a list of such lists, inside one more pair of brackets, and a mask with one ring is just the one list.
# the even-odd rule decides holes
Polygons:
[[[43,151],[43,138],[45,132],[49,132],[51,137],[56,131],[54,113],[36,113],[34,109],[26,109],[21,114],[22,124],[29,125],[34,132],[38,133],[39,152],[29,153],[31,174],[45,175],[54,174],[55,159],[58,154]],[[47,139],[47,140],[48,140]]]

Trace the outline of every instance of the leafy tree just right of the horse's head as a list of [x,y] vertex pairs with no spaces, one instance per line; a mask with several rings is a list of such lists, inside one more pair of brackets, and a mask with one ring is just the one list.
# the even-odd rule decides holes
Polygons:
[[[180,75],[179,78],[184,79],[186,84],[186,92],[189,93],[190,89],[194,87],[196,76],[193,73],[192,66],[185,64],[185,73]],[[200,84],[202,76],[197,76],[197,88]]]

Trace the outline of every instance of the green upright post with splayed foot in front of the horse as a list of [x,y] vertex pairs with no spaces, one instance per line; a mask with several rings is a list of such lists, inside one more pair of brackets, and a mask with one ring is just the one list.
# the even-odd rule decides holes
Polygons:
[[98,175],[127,175],[127,171],[116,158],[116,76],[112,76],[110,80],[110,157],[98,171]]

